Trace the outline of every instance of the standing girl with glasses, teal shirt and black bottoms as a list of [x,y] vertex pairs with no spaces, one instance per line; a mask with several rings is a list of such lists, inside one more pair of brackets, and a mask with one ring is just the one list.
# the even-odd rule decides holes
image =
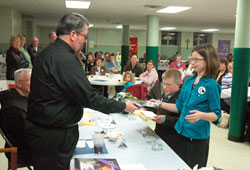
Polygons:
[[176,104],[163,102],[160,107],[180,113],[175,124],[181,135],[180,157],[193,168],[207,164],[210,122],[218,124],[221,117],[221,87],[215,81],[219,59],[213,46],[195,47],[191,61],[196,73],[186,79]]

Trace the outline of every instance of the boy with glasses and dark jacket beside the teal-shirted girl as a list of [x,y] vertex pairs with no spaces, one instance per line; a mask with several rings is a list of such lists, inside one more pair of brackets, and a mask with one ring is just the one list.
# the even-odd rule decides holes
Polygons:
[[[169,69],[162,74],[162,86],[164,94],[162,102],[175,103],[180,94],[180,86],[182,84],[181,72],[177,69]],[[154,99],[151,99],[154,101]],[[162,108],[158,108],[157,117],[155,119],[155,133],[162,138],[178,155],[178,141],[180,135],[175,131],[174,125],[179,119],[179,114],[172,113]]]

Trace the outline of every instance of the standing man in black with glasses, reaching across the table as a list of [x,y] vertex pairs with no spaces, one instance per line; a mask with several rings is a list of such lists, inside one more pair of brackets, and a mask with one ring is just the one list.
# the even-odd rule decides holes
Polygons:
[[25,130],[35,170],[69,169],[84,107],[104,113],[134,111],[94,91],[76,55],[87,41],[88,21],[80,14],[60,20],[54,43],[42,50],[31,75]]

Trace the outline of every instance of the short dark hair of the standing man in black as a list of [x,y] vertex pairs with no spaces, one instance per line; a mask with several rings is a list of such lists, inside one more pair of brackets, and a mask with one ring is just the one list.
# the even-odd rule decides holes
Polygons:
[[89,23],[87,18],[81,14],[66,14],[61,18],[56,28],[56,35],[67,35],[72,30],[79,34],[81,31],[83,31],[84,25],[89,25]]

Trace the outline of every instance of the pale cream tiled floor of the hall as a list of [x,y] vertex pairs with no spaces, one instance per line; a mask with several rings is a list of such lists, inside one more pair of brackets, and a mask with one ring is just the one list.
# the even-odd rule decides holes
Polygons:
[[[154,127],[152,122],[149,124]],[[250,143],[231,142],[227,139],[227,135],[228,129],[211,126],[208,166],[216,166],[223,170],[249,170]],[[0,137],[0,147],[3,146],[4,141]],[[7,170],[7,159],[2,153],[0,154],[0,170]]]

